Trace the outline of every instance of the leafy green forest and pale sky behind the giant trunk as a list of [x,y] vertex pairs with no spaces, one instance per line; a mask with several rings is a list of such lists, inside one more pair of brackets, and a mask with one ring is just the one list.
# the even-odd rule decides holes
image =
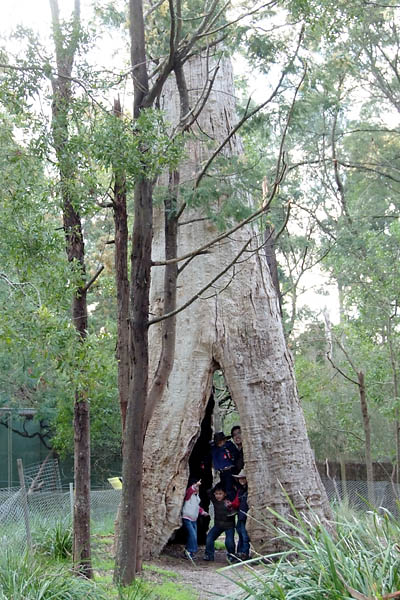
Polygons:
[[[162,3],[154,6],[161,19]],[[207,203],[215,191],[207,181],[196,201],[221,229],[240,221],[248,207],[233,188],[247,190],[261,206],[277,156],[284,156],[285,178],[262,224],[275,232],[282,315],[312,447],[319,460],[390,460],[396,466],[399,8],[394,2],[358,1],[350,7],[298,0],[247,8],[238,2],[231,10],[232,20],[246,15],[224,39],[224,51],[248,65],[246,75],[243,69],[237,74],[240,114],[276,88],[277,93],[243,124],[240,160],[219,161],[218,193],[229,197],[226,213],[215,214]],[[40,35],[18,27],[1,51],[0,407],[35,409],[53,447],[67,456],[73,445],[71,389],[84,390],[91,406],[93,471],[101,477],[110,457],[121,452],[110,181],[116,153],[134,177],[136,150],[129,131],[126,7],[96,2],[85,4],[84,11],[72,81],[73,135],[66,149],[79,163],[79,211],[88,279],[93,278],[84,346],[70,319],[81,274],[71,271],[65,254],[51,134],[50,25]],[[150,26],[156,48],[160,21]],[[297,44],[296,60],[288,63]],[[6,69],[8,64],[16,68]],[[117,95],[123,127],[112,111]],[[182,160],[179,148],[168,145],[157,111],[142,126],[156,150],[149,166],[155,175]],[[317,290],[321,308],[337,290],[335,324],[329,311],[301,304],[307,274],[316,269],[325,276]],[[223,379],[216,386],[224,410],[229,393]]]

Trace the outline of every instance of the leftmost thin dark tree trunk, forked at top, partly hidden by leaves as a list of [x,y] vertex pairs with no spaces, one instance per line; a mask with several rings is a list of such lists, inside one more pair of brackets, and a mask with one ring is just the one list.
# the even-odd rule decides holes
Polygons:
[[[52,80],[52,133],[57,155],[63,201],[63,225],[68,260],[74,269],[79,267],[80,281],[72,302],[72,321],[84,343],[87,335],[87,286],[85,269],[85,245],[81,218],[76,208],[75,161],[66,150],[69,140],[69,111],[72,104],[71,74],[80,32],[80,3],[75,0],[73,27],[64,35],[59,22],[57,0],[50,0],[53,24],[53,40],[56,50],[57,77]],[[74,396],[74,546],[73,560],[78,571],[91,578],[90,550],[90,415],[85,392],[76,391]]]

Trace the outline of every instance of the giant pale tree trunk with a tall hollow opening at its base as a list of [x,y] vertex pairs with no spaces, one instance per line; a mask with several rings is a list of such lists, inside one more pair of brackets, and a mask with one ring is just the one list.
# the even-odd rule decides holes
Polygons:
[[[206,61],[199,58],[190,61],[185,73],[193,107],[199,91],[205,87]],[[181,168],[181,182],[193,181],[210,153],[210,139],[206,139],[204,132],[219,143],[236,123],[233,94],[230,64],[223,61],[214,91],[197,120],[197,136],[190,142],[190,158]],[[166,86],[161,103],[170,122],[176,123],[179,99],[173,82]],[[239,154],[240,141],[233,137],[227,148],[227,154]],[[216,199],[216,210],[220,202],[223,199]],[[178,255],[202,246],[218,234],[209,220],[199,220],[201,216],[204,215],[196,210],[183,213]],[[179,275],[177,305],[183,304],[225,269],[254,234],[254,229],[246,226],[191,260]],[[200,434],[212,375],[217,367],[224,373],[240,415],[249,505],[255,517],[248,520],[253,544],[258,548],[274,548],[275,542],[261,521],[273,520],[267,507],[283,514],[289,512],[281,486],[297,509],[312,508],[320,516],[330,514],[307,438],[276,291],[265,255],[256,249],[259,245],[254,239],[253,252],[244,254],[240,264],[177,316],[173,371],[145,441],[147,554],[159,553],[180,525],[188,460]],[[163,223],[159,213],[154,223],[155,260],[164,258],[163,248]],[[163,267],[153,267],[151,310],[155,315],[163,309],[162,290]],[[160,324],[150,327],[153,371],[161,346],[160,331]]]

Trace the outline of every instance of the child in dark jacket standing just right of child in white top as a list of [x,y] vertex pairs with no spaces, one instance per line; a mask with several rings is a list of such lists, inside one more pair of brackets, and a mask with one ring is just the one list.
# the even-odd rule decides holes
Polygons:
[[220,483],[210,490],[210,499],[214,505],[214,526],[207,534],[204,560],[214,560],[215,540],[221,533],[225,533],[227,558],[232,562],[235,559],[235,516],[231,514],[232,503]]

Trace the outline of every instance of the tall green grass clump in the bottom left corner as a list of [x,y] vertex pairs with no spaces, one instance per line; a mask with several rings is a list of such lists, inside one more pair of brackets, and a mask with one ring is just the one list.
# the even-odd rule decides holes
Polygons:
[[107,600],[93,582],[28,556],[0,556],[0,600]]

